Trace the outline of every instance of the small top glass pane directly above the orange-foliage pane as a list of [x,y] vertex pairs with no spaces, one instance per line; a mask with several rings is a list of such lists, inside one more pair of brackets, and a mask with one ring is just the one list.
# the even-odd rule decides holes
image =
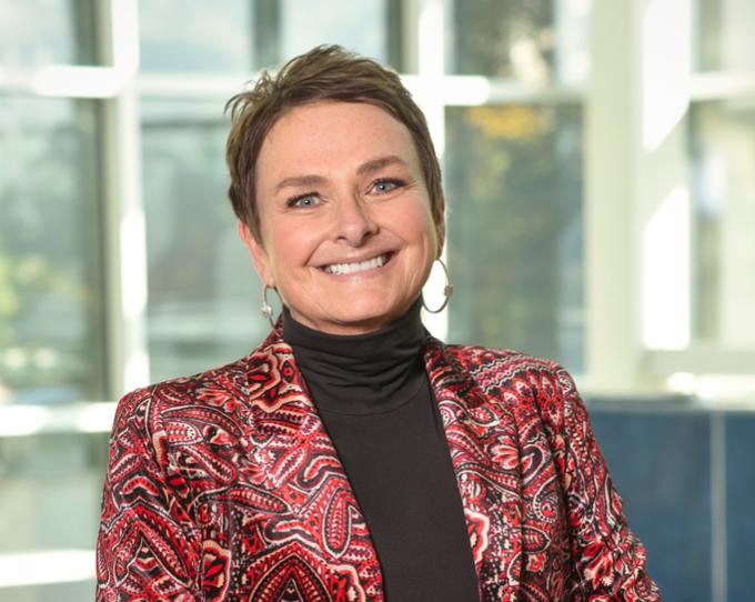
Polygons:
[[585,82],[590,0],[445,0],[446,72]]

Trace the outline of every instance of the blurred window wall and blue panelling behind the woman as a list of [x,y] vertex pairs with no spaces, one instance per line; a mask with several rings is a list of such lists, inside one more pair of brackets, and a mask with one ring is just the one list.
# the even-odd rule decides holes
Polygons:
[[0,0],[0,601],[92,599],[115,401],[266,333],[223,104],[323,42],[427,116],[456,291],[429,328],[562,362],[664,600],[752,599],[754,28],[749,0]]

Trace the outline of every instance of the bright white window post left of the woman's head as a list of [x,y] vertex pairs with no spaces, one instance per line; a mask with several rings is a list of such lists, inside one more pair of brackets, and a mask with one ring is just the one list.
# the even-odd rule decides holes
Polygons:
[[141,191],[141,142],[135,76],[137,3],[111,0],[105,43],[124,74],[118,96],[104,100],[104,239],[109,389],[119,397],[149,382],[147,349],[147,235]]

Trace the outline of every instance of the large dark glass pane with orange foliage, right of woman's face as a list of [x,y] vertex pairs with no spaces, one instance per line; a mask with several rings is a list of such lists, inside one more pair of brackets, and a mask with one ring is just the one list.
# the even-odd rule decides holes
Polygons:
[[583,372],[582,111],[450,108],[449,340]]

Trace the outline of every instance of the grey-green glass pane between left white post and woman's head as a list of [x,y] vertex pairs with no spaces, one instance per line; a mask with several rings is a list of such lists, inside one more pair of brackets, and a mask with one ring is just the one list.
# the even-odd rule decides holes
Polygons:
[[149,351],[161,380],[241,358],[270,327],[226,198],[222,107],[142,109]]

